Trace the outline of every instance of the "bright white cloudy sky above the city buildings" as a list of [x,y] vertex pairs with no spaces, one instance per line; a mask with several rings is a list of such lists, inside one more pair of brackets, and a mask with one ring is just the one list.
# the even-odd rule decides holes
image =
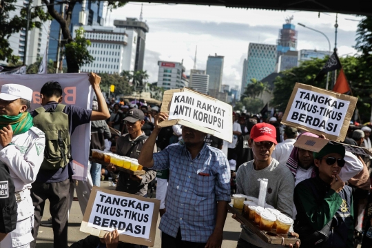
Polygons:
[[[114,19],[139,17],[141,3],[128,3],[110,13]],[[250,42],[275,44],[285,18],[293,15],[292,23],[298,30],[298,50],[328,50],[328,42],[321,34],[302,28],[303,23],[324,32],[334,48],[335,14],[304,11],[243,10],[219,6],[192,6],[145,3],[143,18],[149,25],[146,37],[145,70],[150,82],[157,81],[158,60],[183,60],[187,72],[194,67],[195,48],[198,45],[197,68],[205,69],[208,55],[225,56],[223,84],[240,85],[242,61],[247,56]],[[339,54],[355,53],[355,30],[361,19],[338,14]]]

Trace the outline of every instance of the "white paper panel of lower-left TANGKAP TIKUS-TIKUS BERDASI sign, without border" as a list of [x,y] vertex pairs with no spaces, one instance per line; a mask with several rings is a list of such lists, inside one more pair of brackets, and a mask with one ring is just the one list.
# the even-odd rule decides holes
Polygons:
[[98,191],[87,226],[148,239],[153,211],[154,203]]

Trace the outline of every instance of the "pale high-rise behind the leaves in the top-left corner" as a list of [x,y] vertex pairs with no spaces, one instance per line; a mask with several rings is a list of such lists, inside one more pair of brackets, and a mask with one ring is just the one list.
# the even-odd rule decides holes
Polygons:
[[[16,3],[18,6],[27,6],[28,0],[18,0]],[[41,6],[43,3],[41,0],[33,1],[32,6]],[[12,19],[14,16],[19,16],[21,8],[10,12],[9,18]],[[46,11],[46,9],[45,9]],[[27,50],[25,64],[30,65],[35,63],[40,56],[43,56],[49,40],[50,32],[50,21],[46,21],[41,25],[41,28],[32,28],[28,32],[28,43],[25,48],[25,29],[23,28],[20,32],[10,35],[8,41],[10,48],[13,50],[13,55],[19,56],[20,61],[23,62],[23,56],[25,55],[25,49]],[[0,64],[7,65],[8,61],[0,61]]]

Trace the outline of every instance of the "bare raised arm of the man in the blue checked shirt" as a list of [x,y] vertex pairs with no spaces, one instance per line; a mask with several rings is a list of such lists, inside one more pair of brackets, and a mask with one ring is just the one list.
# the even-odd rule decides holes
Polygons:
[[152,156],[152,154],[154,152],[156,137],[161,131],[161,127],[158,127],[158,123],[161,121],[165,121],[167,118],[168,114],[165,114],[163,112],[154,116],[154,131],[152,131],[149,138],[147,138],[147,141],[143,144],[140,156],[138,157],[138,163],[140,165],[143,165],[147,168],[151,168],[152,166],[154,166],[154,157]]

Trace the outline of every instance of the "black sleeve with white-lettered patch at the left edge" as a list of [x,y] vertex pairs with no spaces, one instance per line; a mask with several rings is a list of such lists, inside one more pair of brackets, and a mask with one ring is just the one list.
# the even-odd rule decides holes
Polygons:
[[0,233],[8,234],[17,225],[15,188],[8,166],[0,162]]

